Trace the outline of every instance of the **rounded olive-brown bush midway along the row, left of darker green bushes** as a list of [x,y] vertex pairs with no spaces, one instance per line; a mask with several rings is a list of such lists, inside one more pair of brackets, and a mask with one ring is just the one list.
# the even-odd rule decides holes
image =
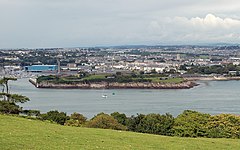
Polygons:
[[114,130],[126,130],[126,127],[118,123],[112,116],[104,113],[100,113],[92,118],[88,123],[87,127],[90,128],[103,128],[103,129],[114,129]]

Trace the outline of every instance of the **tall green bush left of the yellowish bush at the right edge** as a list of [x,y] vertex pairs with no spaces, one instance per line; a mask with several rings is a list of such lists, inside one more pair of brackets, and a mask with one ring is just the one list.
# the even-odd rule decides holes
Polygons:
[[206,124],[210,115],[185,110],[175,119],[174,135],[181,137],[204,137],[207,135]]

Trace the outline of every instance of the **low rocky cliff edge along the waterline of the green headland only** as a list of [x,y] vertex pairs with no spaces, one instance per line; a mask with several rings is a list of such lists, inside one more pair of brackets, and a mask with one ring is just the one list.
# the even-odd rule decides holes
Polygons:
[[[30,80],[29,80],[30,81]],[[33,83],[33,81],[30,81]],[[192,81],[182,83],[77,83],[77,84],[54,84],[50,82],[33,83],[37,88],[53,88],[53,89],[190,89],[198,84]]]

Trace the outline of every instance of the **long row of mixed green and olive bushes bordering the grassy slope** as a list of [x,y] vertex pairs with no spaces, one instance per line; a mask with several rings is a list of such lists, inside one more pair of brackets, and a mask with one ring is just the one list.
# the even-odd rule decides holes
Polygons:
[[90,120],[79,113],[67,116],[66,113],[55,110],[37,114],[36,118],[65,126],[126,130],[165,136],[240,138],[240,116],[210,115],[192,110],[185,110],[177,117],[169,113],[137,114],[130,117],[119,112],[110,115],[99,113]]

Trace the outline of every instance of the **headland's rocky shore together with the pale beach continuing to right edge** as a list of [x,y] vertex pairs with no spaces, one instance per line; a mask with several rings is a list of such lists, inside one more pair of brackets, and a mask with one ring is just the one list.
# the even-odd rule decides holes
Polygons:
[[94,83],[73,83],[73,84],[55,84],[51,82],[37,83],[37,80],[30,78],[31,82],[36,88],[49,89],[190,89],[199,84],[195,81],[229,81],[240,80],[240,77],[188,77],[184,78],[181,83],[152,83],[152,82],[94,82]]

